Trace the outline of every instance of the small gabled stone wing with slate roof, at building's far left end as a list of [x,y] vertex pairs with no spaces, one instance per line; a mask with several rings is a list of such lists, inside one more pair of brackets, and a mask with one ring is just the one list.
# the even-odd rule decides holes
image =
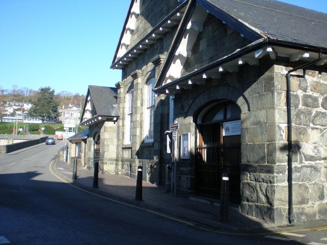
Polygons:
[[115,169],[116,121],[119,118],[116,104],[116,88],[88,86],[80,122],[81,125],[88,126],[85,142],[87,169],[92,169],[95,161],[99,161],[99,170],[102,173],[113,172]]

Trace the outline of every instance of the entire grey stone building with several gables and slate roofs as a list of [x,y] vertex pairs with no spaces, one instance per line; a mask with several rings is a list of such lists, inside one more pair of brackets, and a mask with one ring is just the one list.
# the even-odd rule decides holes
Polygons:
[[[327,218],[327,14],[246,2],[131,1],[111,65],[122,69],[116,114],[83,119],[88,140],[100,135],[107,173],[135,178],[143,165],[175,195],[213,199],[227,173],[244,214]],[[84,114],[97,107],[91,90]]]

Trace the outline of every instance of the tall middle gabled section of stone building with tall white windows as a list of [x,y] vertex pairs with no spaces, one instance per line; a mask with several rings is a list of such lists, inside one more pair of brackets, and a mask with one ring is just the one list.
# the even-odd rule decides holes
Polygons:
[[165,183],[165,154],[169,126],[169,98],[155,96],[162,62],[185,11],[180,1],[132,1],[112,68],[122,69],[118,88],[117,174],[136,178],[138,165],[143,179]]

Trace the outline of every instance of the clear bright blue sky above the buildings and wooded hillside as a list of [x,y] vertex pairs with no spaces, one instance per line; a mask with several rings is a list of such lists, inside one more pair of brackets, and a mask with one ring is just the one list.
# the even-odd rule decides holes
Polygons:
[[[162,0],[165,1],[165,0]],[[327,13],[325,0],[284,0]],[[114,86],[109,68],[130,0],[0,0],[0,88],[85,94]]]

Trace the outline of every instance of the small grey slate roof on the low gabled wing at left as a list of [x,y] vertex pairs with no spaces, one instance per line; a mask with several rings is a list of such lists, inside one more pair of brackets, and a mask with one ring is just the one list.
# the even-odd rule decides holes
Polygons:
[[88,86],[97,115],[119,116],[117,105],[117,89],[105,86]]

